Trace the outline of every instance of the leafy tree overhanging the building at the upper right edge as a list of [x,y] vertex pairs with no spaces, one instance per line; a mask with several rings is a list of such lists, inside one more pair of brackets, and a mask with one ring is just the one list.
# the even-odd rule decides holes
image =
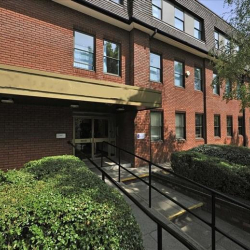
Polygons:
[[218,78],[213,85],[227,83],[224,99],[241,101],[242,109],[250,107],[250,1],[224,0],[230,11],[228,42],[211,51]]

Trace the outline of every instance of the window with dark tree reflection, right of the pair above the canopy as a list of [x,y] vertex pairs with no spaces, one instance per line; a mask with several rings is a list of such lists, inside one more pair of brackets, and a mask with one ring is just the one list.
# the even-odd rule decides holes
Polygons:
[[104,41],[103,71],[120,75],[120,46],[118,44]]

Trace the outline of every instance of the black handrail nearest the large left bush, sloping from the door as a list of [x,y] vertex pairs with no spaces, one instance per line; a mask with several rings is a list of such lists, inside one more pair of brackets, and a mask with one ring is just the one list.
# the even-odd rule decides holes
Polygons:
[[[162,222],[156,216],[154,216],[150,211],[147,210],[147,208],[145,208],[140,202],[138,202],[133,197],[133,195],[131,195],[128,191],[126,191],[122,186],[119,185],[119,183],[117,181],[115,181],[108,173],[106,173],[106,171],[103,170],[103,168],[102,168],[102,166],[103,166],[103,156],[104,156],[103,154],[102,154],[102,157],[101,157],[101,167],[99,167],[91,158],[89,158],[82,151],[78,150],[75,147],[75,145],[72,144],[70,141],[68,141],[68,144],[71,145],[78,153],[82,154],[86,159],[88,159],[101,172],[103,181],[105,181],[105,178],[107,178],[112,184],[114,184],[118,189],[120,189],[130,200],[132,200],[136,204],[136,206],[139,207],[151,220],[153,220],[157,224],[157,239],[158,239],[157,240],[157,247],[158,247],[158,250],[162,250],[162,229],[166,230],[169,234],[171,234],[174,238],[176,238],[179,242],[181,242],[188,249],[191,249],[191,250],[197,250],[198,249],[191,242],[189,242],[185,237],[183,237],[182,235],[177,233],[174,229],[170,228],[166,223]],[[121,149],[118,149],[118,151],[120,151],[120,150]],[[121,174],[120,167],[121,168],[123,168],[123,167],[121,166],[120,153],[118,153],[118,156],[119,156],[119,176],[118,176],[118,180],[120,181],[120,174]],[[108,158],[108,159],[110,159],[110,158]],[[131,171],[129,171],[129,172],[131,174],[133,174]],[[134,175],[134,176],[136,176],[136,175]],[[138,178],[141,179],[140,177],[138,177]],[[147,182],[145,182],[145,183],[147,183]]]

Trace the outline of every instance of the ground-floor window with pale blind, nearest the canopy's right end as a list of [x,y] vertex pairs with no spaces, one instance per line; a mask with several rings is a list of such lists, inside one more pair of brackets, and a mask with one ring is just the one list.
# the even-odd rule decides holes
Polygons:
[[151,141],[162,140],[162,112],[150,112]]

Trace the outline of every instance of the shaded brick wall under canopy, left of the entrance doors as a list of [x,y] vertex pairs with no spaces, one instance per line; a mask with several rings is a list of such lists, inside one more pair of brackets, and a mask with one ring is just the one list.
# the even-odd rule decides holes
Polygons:
[[[66,133],[66,139],[56,139]],[[44,156],[72,154],[70,108],[0,104],[0,169],[20,168]]]

